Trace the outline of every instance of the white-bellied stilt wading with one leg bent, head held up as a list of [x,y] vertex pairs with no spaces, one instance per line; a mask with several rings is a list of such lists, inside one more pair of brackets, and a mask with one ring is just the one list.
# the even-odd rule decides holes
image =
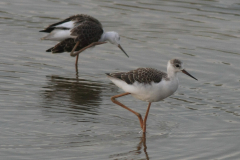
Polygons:
[[[184,68],[179,59],[168,61],[167,73],[153,68],[138,68],[129,72],[106,73],[108,78],[125,93],[115,95],[112,102],[134,113],[139,121],[143,132],[146,132],[146,122],[152,102],[158,102],[172,95],[178,88],[177,72],[183,72],[194,78]],[[142,101],[149,102],[144,120],[141,114],[128,108],[116,100],[116,98],[131,94]]]

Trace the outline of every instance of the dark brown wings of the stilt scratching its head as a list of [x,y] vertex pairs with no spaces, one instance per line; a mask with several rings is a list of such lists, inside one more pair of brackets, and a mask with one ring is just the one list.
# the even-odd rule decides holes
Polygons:
[[71,52],[76,42],[79,41],[80,43],[75,50],[78,51],[90,45],[93,42],[97,42],[101,38],[101,35],[103,33],[102,24],[97,19],[85,14],[74,15],[65,20],[54,23],[47,27],[45,30],[42,30],[42,32],[51,32],[52,30],[57,28],[56,27],[57,25],[69,21],[74,21],[75,27],[71,30],[71,35],[77,37],[75,39],[73,38],[65,39],[56,44],[54,47],[46,50],[46,52],[52,53]]

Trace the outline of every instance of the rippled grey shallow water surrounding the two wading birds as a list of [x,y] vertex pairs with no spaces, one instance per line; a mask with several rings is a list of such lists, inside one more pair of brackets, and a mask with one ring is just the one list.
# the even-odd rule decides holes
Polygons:
[[[238,0],[2,0],[0,153],[21,159],[239,159],[240,3]],[[99,19],[121,35],[127,58],[104,44],[80,54],[45,52],[38,32],[70,15]],[[166,70],[180,58],[171,97],[153,103],[146,141],[136,116],[113,104],[123,91],[106,72]],[[144,115],[147,103],[119,99]]]

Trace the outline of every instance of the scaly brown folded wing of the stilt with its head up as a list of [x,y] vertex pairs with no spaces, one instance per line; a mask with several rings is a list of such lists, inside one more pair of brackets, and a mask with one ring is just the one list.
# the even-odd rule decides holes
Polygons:
[[134,82],[150,84],[151,82],[159,83],[167,74],[153,68],[138,68],[130,72],[107,73],[108,76],[121,79],[127,84]]

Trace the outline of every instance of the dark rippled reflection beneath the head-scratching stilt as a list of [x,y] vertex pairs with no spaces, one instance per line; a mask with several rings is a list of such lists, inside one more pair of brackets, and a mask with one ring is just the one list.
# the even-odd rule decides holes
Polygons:
[[[77,73],[76,73],[77,74]],[[85,110],[97,114],[96,108],[102,99],[103,84],[95,81],[60,76],[47,76],[47,85],[43,87],[44,106],[61,106]]]

